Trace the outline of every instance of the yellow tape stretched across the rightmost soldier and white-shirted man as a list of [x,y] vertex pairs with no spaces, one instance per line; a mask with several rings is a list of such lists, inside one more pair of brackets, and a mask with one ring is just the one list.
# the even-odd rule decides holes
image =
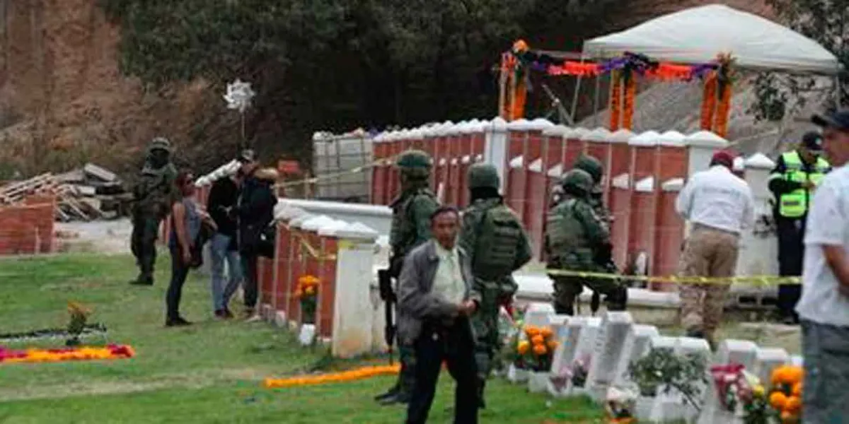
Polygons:
[[549,276],[574,276],[578,278],[601,278],[605,280],[630,280],[633,282],[672,282],[675,284],[717,284],[726,285],[744,284],[747,286],[771,287],[779,284],[801,284],[799,276],[627,276],[622,274],[608,274],[604,272],[553,270],[545,271]]

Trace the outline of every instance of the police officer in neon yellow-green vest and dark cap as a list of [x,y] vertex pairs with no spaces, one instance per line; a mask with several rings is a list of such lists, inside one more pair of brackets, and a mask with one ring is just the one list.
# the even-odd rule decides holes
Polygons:
[[[805,245],[805,219],[808,206],[819,181],[829,172],[829,162],[823,153],[823,136],[808,132],[798,148],[782,154],[769,176],[769,190],[773,192],[773,213],[779,237],[779,274],[801,276]],[[797,324],[796,302],[801,296],[801,286],[779,286],[779,314],[785,324]]]

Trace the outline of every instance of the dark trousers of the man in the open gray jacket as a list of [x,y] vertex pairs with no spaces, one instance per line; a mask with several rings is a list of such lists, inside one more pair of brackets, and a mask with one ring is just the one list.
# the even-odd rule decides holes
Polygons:
[[454,389],[454,423],[476,424],[477,367],[469,320],[458,319],[448,328],[425,326],[414,345],[416,382],[413,398],[407,407],[407,424],[427,422],[443,360],[447,362],[451,377],[457,382]]

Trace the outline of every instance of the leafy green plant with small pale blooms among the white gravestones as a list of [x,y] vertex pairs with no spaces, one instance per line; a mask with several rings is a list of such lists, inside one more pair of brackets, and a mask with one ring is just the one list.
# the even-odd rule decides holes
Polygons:
[[654,397],[677,390],[684,402],[701,411],[701,387],[707,383],[707,358],[701,354],[675,354],[671,349],[653,349],[628,365],[628,374],[640,396]]

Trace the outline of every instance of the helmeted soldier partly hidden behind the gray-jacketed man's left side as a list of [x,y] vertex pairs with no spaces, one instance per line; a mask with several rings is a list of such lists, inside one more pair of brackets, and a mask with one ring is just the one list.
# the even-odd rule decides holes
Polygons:
[[[428,187],[430,181],[430,155],[410,149],[398,155],[396,166],[401,175],[401,194],[392,201],[392,228],[389,236],[391,248],[390,275],[401,275],[401,266],[407,254],[430,239],[430,214],[439,208],[436,195]],[[397,293],[397,287],[396,287]],[[381,404],[408,403],[415,382],[415,357],[413,340],[397,335],[401,372],[396,385],[376,399]]]

